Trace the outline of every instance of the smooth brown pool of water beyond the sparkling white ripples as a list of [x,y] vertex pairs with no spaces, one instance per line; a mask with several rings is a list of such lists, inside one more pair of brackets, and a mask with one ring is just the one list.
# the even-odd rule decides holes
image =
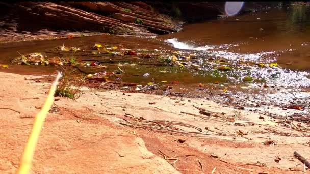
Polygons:
[[268,58],[282,67],[309,71],[309,29],[310,7],[295,5],[186,25],[182,31],[161,38],[244,54],[274,51],[276,54]]

